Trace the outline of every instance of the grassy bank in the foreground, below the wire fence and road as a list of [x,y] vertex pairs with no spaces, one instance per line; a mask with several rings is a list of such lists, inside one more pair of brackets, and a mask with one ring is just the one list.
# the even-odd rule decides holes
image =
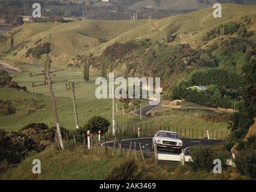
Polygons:
[[[131,153],[130,158],[134,158],[134,152]],[[145,155],[145,164],[139,153],[137,158],[139,168],[137,172],[142,173],[141,179],[243,179],[234,172],[233,168],[223,170],[222,174],[192,172],[188,166],[180,166],[180,163],[160,163],[155,167],[154,157],[151,155]],[[31,171],[34,159],[41,161],[41,174],[33,174]],[[101,149],[100,154],[97,155],[96,152],[88,151],[83,154],[81,149],[76,152],[66,150],[59,153],[54,148],[49,148],[39,154],[31,154],[22,163],[0,176],[0,179],[104,179],[114,167],[118,167],[125,160],[127,160],[125,151],[122,157],[117,151],[116,155],[111,157],[111,151],[109,150],[105,155],[105,149]]]

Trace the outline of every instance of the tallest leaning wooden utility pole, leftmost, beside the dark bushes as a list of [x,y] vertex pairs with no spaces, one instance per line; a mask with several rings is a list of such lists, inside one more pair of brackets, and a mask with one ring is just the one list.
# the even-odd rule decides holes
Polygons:
[[49,90],[50,90],[50,94],[52,97],[52,110],[54,113],[54,119],[55,119],[55,125],[56,125],[56,129],[57,129],[57,137],[58,137],[58,142],[60,143],[60,147],[63,150],[64,149],[64,145],[63,145],[63,140],[61,137],[61,131],[60,131],[60,123],[58,121],[58,113],[57,113],[57,106],[56,106],[56,101],[55,101],[55,97],[54,97],[54,90],[52,88],[52,80],[51,80],[51,76],[49,74],[49,70],[46,70],[46,76],[48,79],[48,85],[49,85]]

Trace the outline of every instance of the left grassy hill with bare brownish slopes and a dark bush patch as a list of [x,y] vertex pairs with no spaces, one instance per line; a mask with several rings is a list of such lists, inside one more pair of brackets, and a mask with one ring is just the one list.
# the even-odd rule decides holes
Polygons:
[[[5,53],[5,60],[11,62],[42,63],[43,56],[41,59],[26,58],[28,49],[42,40],[42,44],[51,43],[53,65],[66,66],[76,55],[146,22],[148,21],[86,20],[70,23],[26,23],[5,34],[8,39],[1,43],[0,51]],[[14,50],[10,49],[11,35],[14,37]]]

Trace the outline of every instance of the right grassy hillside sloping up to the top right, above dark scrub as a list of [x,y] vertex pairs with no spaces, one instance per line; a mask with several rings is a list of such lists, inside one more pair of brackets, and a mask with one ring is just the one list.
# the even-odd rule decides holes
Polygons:
[[138,26],[132,31],[125,32],[106,43],[93,47],[88,52],[99,53],[111,44],[124,43],[134,38],[149,38],[152,42],[162,41],[163,38],[166,38],[169,26],[177,28],[175,35],[178,36],[178,39],[175,43],[189,43],[192,47],[203,46],[202,37],[214,27],[228,22],[242,22],[242,18],[245,16],[252,17],[249,29],[255,30],[256,13],[251,13],[256,10],[256,5],[223,4],[222,18],[217,19],[213,17],[213,10],[210,7]]

